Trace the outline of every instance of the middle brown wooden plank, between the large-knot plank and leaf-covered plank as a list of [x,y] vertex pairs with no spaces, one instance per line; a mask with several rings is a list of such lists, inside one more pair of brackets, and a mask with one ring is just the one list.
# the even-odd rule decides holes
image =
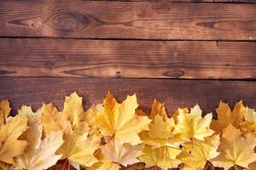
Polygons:
[[2,77],[255,79],[256,42],[0,38]]

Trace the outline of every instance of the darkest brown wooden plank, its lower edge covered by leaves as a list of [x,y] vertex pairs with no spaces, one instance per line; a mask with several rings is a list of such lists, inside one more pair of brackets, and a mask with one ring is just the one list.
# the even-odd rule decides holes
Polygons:
[[14,108],[22,104],[37,109],[42,102],[53,102],[62,108],[64,95],[77,91],[84,96],[84,106],[102,103],[108,89],[119,99],[137,93],[138,103],[148,111],[154,98],[166,102],[169,113],[177,107],[201,105],[204,112],[214,111],[222,99],[234,105],[243,99],[245,105],[256,108],[256,82],[206,81],[170,79],[119,78],[54,78],[54,77],[0,77],[0,99],[9,99]]

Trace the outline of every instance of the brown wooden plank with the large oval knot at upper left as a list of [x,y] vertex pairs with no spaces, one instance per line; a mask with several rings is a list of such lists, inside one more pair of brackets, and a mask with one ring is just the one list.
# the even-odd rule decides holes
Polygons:
[[256,4],[3,1],[2,37],[256,40]]

